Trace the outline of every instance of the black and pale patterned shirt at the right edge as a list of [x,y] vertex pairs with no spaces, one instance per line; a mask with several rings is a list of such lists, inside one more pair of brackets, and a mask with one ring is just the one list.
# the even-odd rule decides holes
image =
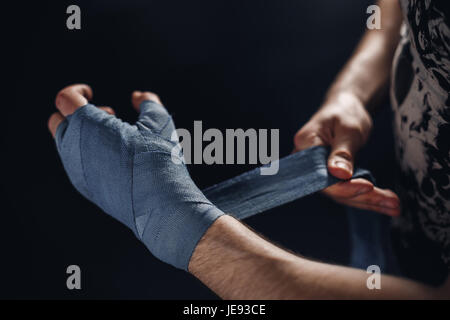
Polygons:
[[439,283],[450,270],[450,0],[400,0],[404,26],[391,102],[402,215],[402,271]]

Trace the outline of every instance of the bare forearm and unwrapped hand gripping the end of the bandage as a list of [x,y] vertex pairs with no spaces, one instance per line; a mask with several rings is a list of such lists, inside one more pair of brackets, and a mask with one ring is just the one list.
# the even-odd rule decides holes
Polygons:
[[[356,153],[369,137],[371,113],[386,93],[399,41],[402,15],[398,1],[381,0],[378,5],[381,30],[366,31],[322,106],[294,137],[294,151],[330,146],[328,170],[340,179],[350,179]],[[347,206],[391,216],[400,214],[397,195],[365,179],[340,182],[323,192]]]

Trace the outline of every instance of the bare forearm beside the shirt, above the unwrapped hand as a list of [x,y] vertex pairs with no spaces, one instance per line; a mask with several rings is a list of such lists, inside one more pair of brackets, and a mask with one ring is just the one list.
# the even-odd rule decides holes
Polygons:
[[380,0],[381,30],[367,30],[330,87],[325,105],[340,94],[356,97],[373,111],[386,92],[402,22],[398,1]]

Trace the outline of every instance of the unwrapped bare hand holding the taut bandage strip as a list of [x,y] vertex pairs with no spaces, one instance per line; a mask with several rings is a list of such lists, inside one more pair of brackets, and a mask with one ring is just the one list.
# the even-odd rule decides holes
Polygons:
[[[355,155],[367,141],[372,119],[350,94],[328,101],[294,137],[294,152],[312,146],[330,146],[329,172],[340,179],[353,175]],[[380,189],[365,179],[339,182],[323,192],[335,201],[390,216],[400,214],[400,200],[391,190]]]

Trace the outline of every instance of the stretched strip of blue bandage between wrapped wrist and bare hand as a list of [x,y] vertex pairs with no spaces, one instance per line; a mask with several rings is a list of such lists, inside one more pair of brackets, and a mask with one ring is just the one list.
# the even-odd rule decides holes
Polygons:
[[[327,148],[309,148],[278,160],[275,175],[257,168],[202,191],[223,212],[245,219],[341,181],[328,173],[327,159]],[[356,169],[353,178],[361,177],[374,181],[369,171]]]

